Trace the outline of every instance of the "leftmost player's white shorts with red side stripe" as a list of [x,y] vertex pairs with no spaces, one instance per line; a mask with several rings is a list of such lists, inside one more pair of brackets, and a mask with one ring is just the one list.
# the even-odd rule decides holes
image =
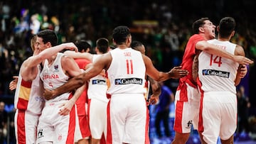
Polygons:
[[36,128],[39,115],[24,110],[16,110],[14,127],[17,143],[36,143]]

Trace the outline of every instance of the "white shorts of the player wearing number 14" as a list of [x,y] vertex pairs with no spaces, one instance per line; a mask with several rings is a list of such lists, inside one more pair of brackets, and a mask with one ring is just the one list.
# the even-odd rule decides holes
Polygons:
[[228,140],[237,128],[237,99],[230,92],[203,93],[202,123],[203,140],[217,143],[218,136]]

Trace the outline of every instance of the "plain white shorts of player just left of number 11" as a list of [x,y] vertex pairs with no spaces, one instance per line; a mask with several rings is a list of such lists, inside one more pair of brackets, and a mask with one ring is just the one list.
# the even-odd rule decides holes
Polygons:
[[92,138],[107,138],[107,102],[92,98],[89,100],[89,124]]

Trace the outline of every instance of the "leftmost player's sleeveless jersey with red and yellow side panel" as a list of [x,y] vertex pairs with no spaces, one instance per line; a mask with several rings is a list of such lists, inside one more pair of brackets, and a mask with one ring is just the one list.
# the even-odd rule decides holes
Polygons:
[[18,83],[14,96],[14,106],[16,109],[30,111],[34,114],[41,114],[44,106],[43,85],[39,77],[41,71],[38,65],[38,74],[33,81],[26,82],[21,77],[21,72],[18,74]]

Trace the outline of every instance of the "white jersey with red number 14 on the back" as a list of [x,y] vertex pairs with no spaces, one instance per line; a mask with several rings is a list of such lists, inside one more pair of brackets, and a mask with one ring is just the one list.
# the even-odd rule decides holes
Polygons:
[[[217,45],[234,55],[235,44],[228,41],[208,40],[208,43]],[[218,57],[207,52],[201,52],[198,57],[198,77],[202,82],[204,92],[229,91],[236,94],[235,77],[238,62],[225,57]]]

